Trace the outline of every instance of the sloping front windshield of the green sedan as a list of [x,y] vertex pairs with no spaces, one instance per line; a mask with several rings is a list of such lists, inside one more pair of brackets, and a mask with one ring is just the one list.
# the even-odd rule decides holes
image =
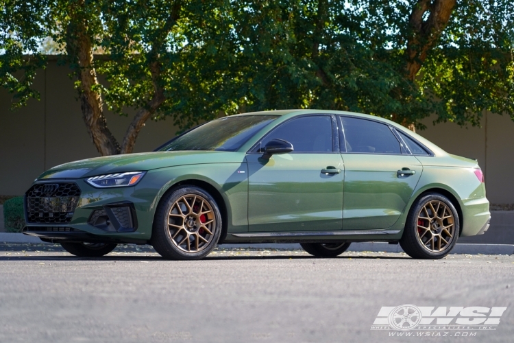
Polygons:
[[277,119],[276,115],[245,115],[209,121],[164,144],[157,151],[236,151],[256,132]]

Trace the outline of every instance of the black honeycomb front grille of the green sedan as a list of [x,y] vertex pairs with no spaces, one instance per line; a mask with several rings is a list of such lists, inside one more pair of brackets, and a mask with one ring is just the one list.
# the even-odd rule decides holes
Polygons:
[[66,224],[79,202],[80,189],[75,183],[38,183],[26,193],[27,222]]

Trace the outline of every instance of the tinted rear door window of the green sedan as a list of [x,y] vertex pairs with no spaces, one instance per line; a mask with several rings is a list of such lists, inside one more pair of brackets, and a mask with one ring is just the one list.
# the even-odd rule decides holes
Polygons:
[[376,121],[341,117],[347,152],[368,154],[400,154],[400,142],[389,126]]

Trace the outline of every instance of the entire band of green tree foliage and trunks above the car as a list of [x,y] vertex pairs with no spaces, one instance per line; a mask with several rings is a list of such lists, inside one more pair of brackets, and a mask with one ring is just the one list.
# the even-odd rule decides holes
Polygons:
[[[0,80],[15,106],[38,97],[51,39],[101,154],[132,152],[145,121],[165,116],[181,128],[280,108],[412,129],[432,113],[473,126],[484,110],[514,119],[507,0],[0,0],[0,15]],[[136,110],[123,141],[104,108]]]

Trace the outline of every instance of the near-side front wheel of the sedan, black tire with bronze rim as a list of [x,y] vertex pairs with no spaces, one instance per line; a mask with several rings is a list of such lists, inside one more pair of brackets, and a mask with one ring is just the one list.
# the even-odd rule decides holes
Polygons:
[[[188,215],[184,215],[186,211]],[[204,222],[201,213],[205,213]],[[214,198],[204,189],[184,186],[168,193],[158,205],[151,244],[165,259],[202,259],[216,247],[221,228],[221,213]]]

